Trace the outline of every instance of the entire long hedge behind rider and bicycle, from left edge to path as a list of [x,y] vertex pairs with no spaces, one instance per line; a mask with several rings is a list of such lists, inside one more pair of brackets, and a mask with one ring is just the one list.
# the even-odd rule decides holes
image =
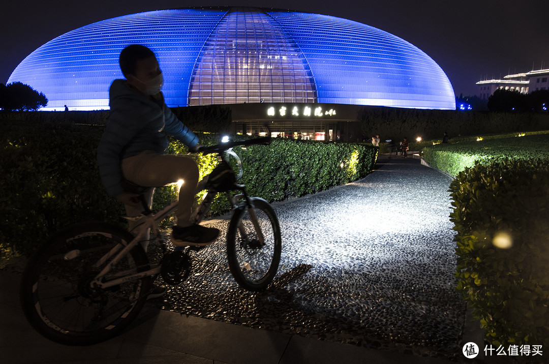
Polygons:
[[[99,178],[96,148],[103,129],[102,124],[63,120],[0,122],[0,250],[29,253],[48,233],[77,221],[122,223],[123,206],[107,196]],[[214,134],[199,137],[206,145],[219,141]],[[172,142],[170,152],[187,150]],[[268,146],[248,147],[241,154],[246,168],[242,182],[251,194],[274,201],[365,176],[377,148],[279,139]],[[201,175],[216,164],[212,155],[197,159]],[[153,208],[173,198],[173,187],[157,189]],[[221,197],[212,212],[220,214],[227,208]]]

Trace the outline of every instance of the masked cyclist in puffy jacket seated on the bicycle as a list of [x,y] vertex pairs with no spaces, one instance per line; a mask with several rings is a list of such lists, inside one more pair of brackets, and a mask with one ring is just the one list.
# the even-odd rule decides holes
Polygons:
[[[195,224],[191,209],[198,184],[198,165],[187,156],[167,155],[164,132],[197,152],[198,137],[164,103],[163,75],[153,51],[140,44],[122,50],[120,69],[125,80],[114,80],[109,89],[110,119],[97,149],[101,180],[110,197],[124,203],[130,217],[141,215],[138,195],[127,192],[122,181],[143,187],[166,186],[183,180],[177,205],[177,225],[172,242],[177,246],[208,245],[219,229]],[[145,193],[152,206],[154,189]],[[130,221],[130,231],[135,222]],[[146,247],[145,247],[146,248]]]

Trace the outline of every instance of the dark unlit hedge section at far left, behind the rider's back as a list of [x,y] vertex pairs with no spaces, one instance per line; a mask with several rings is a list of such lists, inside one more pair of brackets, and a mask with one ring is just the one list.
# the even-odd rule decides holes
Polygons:
[[117,221],[95,151],[103,126],[2,122],[0,243],[26,253],[47,233],[76,220]]

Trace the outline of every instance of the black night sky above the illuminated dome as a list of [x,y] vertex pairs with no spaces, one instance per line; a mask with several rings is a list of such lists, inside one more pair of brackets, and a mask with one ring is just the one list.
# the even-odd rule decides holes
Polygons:
[[549,68],[549,0],[8,0],[0,4],[0,82],[36,48],[78,27],[149,10],[203,5],[292,9],[377,27],[433,58],[456,96],[477,93],[475,82],[486,77]]

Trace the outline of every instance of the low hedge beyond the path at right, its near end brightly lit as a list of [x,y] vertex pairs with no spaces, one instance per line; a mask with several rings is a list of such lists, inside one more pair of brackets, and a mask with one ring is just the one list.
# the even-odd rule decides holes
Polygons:
[[507,158],[549,159],[548,145],[549,131],[464,137],[453,138],[449,144],[424,147],[422,156],[436,169],[457,176],[475,162],[489,164]]

